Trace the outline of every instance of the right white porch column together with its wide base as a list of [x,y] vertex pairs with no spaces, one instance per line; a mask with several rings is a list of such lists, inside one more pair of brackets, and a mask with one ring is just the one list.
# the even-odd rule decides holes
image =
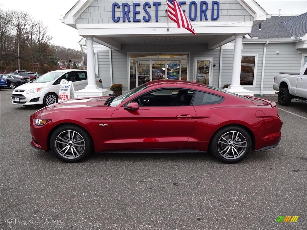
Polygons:
[[[232,65],[232,76],[231,85],[228,87],[229,92],[239,94],[239,95],[249,95],[254,96],[254,92],[251,90],[243,89],[240,85],[240,75],[241,75],[241,60],[242,60],[242,34],[235,35],[235,49],[233,55],[233,65]],[[255,66],[255,68],[257,68]]]

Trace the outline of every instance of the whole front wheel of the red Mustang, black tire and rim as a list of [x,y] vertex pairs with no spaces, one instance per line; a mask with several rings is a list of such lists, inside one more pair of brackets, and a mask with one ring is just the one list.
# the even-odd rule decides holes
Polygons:
[[63,125],[52,133],[50,148],[61,160],[75,163],[84,160],[90,154],[93,144],[91,137],[83,128]]

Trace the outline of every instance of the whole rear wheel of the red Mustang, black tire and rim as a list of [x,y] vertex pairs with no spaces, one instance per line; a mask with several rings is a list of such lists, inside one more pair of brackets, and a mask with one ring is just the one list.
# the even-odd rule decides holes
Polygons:
[[219,161],[236,163],[246,157],[251,150],[251,144],[251,136],[244,128],[228,126],[213,135],[209,148]]

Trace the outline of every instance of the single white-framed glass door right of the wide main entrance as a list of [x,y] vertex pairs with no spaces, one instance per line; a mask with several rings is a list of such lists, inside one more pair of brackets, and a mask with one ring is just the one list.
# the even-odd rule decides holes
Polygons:
[[195,81],[198,83],[211,84],[211,59],[195,59]]

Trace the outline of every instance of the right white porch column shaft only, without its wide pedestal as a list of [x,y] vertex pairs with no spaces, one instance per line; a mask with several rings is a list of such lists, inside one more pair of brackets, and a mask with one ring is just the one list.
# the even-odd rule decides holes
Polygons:
[[242,60],[242,35],[236,35],[230,87],[241,87],[240,85],[241,60]]

